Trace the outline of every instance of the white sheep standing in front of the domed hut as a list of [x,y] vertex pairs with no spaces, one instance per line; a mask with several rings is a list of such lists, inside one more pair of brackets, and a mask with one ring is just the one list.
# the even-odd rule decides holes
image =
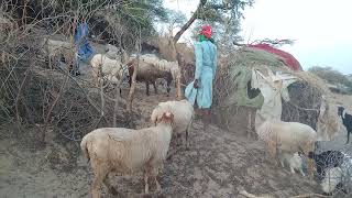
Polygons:
[[[267,119],[256,129],[258,139],[267,145],[268,153],[276,160],[276,150],[292,153],[302,152],[306,156],[315,150],[317,132],[307,124]],[[308,174],[312,177],[314,160],[308,158]]]

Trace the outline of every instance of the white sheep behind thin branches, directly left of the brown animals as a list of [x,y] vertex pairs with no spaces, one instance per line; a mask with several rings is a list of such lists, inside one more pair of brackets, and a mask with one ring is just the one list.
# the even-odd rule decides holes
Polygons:
[[[122,58],[122,62],[123,58]],[[94,80],[96,86],[100,86],[103,77],[111,82],[120,82],[128,75],[128,69],[123,68],[123,63],[120,59],[111,59],[107,55],[96,54],[90,61],[94,69]]]

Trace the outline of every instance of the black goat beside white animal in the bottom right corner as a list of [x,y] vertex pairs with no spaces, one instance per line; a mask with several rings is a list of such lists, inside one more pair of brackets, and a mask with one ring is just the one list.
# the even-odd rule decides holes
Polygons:
[[328,168],[341,166],[344,160],[344,155],[340,151],[326,151],[320,154],[309,152],[308,157],[315,161],[319,180],[324,178]]

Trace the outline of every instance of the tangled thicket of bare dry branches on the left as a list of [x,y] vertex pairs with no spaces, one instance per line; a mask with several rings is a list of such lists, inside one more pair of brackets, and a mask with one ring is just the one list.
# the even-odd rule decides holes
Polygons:
[[[124,1],[10,1],[0,3],[0,122],[48,128],[73,141],[103,125],[133,127],[138,114],[114,86],[95,87],[89,76],[73,76],[76,64],[74,34],[81,22],[89,24],[97,44],[111,43],[127,51],[140,48],[143,24],[133,15],[116,13]],[[133,21],[134,20],[134,21]],[[133,25],[127,25],[132,23]],[[47,38],[70,44],[51,56]],[[136,69],[135,69],[136,70]],[[133,87],[134,85],[132,85]]]

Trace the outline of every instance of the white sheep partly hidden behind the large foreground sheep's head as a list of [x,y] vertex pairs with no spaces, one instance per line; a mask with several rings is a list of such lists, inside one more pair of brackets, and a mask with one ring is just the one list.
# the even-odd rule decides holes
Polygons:
[[170,100],[166,102],[160,102],[151,114],[151,121],[156,124],[161,120],[164,112],[172,112],[175,116],[175,123],[173,125],[173,136],[185,133],[186,147],[188,148],[188,133],[195,117],[194,107],[188,100]]

